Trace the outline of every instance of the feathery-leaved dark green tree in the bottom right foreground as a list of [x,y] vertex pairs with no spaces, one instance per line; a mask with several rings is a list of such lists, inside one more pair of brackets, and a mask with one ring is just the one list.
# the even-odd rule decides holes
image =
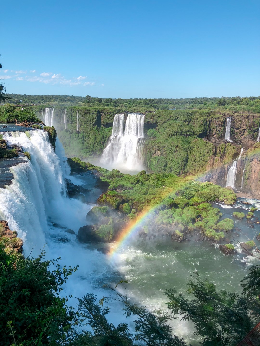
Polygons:
[[196,273],[187,284],[187,292],[195,299],[167,290],[168,308],[181,314],[182,320],[193,322],[194,334],[203,337],[201,345],[237,345],[260,319],[260,266],[252,266],[249,271],[241,281],[240,294],[217,292],[214,283]]

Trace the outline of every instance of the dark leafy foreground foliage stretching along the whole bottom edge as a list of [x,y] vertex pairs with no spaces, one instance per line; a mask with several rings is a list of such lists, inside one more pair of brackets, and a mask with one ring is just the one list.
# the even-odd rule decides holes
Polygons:
[[[204,208],[202,208],[204,209]],[[230,245],[230,244],[228,244]],[[78,298],[78,309],[67,305],[60,294],[68,277],[77,267],[60,267],[59,258],[45,261],[23,257],[6,250],[0,238],[0,330],[3,346],[186,346],[169,325],[173,319],[189,319],[202,346],[235,346],[260,319],[260,266],[252,266],[241,281],[239,292],[217,291],[214,283],[198,274],[187,283],[187,295],[170,289],[165,292],[167,309],[149,311],[131,302],[117,291],[126,281],[99,303],[87,293]],[[191,295],[191,297],[189,297]],[[190,299],[191,298],[191,299]],[[135,331],[128,324],[112,324],[106,303],[120,301],[125,316],[133,316]],[[232,316],[232,318],[231,318]],[[86,331],[88,330],[88,331]]]

